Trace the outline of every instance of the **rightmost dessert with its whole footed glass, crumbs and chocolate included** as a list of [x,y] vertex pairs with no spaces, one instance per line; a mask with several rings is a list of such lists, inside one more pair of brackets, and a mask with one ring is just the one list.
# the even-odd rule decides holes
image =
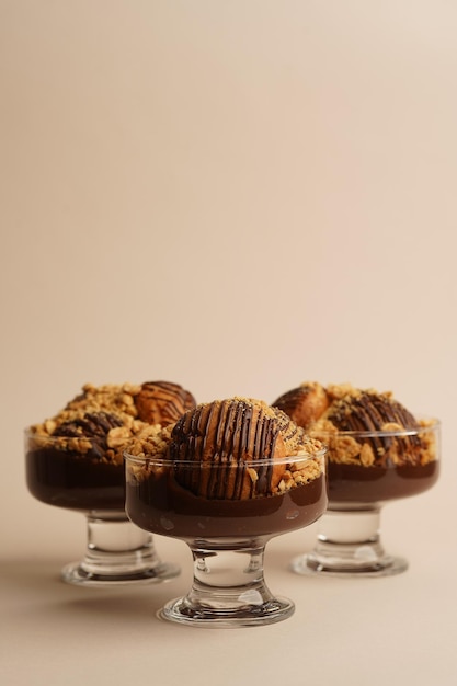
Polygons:
[[385,504],[423,493],[439,471],[439,422],[414,416],[391,392],[350,385],[302,384],[275,402],[328,446],[329,507],[313,550],[293,560],[296,573],[386,576],[408,561],[385,551]]

